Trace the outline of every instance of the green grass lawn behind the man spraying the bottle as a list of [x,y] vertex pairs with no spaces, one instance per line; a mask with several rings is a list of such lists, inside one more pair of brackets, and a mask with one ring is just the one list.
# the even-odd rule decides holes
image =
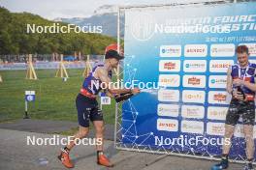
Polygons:
[[[0,71],[0,122],[21,119],[24,114],[24,93],[36,91],[36,101],[29,102],[32,119],[77,121],[75,99],[80,91],[83,70],[68,70],[70,78],[63,82],[56,70],[37,70],[39,80],[25,79],[26,71]],[[104,119],[114,124],[114,105],[103,105]]]

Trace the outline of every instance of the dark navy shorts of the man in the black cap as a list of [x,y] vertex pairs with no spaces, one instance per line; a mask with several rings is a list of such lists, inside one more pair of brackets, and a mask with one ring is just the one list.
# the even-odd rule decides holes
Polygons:
[[103,121],[103,114],[96,99],[90,99],[79,94],[76,105],[81,127],[88,128],[90,121]]

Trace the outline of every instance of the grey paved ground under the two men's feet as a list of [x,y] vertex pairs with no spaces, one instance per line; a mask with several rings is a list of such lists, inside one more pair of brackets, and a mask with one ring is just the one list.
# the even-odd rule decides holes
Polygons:
[[[61,146],[29,146],[27,136],[52,137],[52,134],[25,132],[0,128],[0,169],[5,170],[61,170],[56,156]],[[60,136],[62,138],[64,136]],[[116,151],[113,142],[107,140],[105,151],[115,166],[112,170],[208,170],[215,161],[180,156],[152,155],[137,152]],[[77,146],[71,153],[76,163],[74,170],[105,170],[95,163],[95,151],[91,146]],[[158,161],[157,161],[158,160]],[[146,166],[147,165],[147,166]],[[232,164],[230,170],[240,170],[240,164]]]

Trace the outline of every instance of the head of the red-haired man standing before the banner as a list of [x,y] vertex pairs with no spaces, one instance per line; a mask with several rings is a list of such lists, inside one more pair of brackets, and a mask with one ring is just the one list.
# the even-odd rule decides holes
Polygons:
[[246,45],[239,45],[236,49],[238,61],[241,67],[245,67],[249,62],[249,49]]

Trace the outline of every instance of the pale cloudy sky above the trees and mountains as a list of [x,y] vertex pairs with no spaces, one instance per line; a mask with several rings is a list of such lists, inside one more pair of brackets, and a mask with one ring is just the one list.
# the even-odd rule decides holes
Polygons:
[[210,0],[0,0],[11,12],[28,12],[45,18],[84,17],[103,5],[166,4]]

